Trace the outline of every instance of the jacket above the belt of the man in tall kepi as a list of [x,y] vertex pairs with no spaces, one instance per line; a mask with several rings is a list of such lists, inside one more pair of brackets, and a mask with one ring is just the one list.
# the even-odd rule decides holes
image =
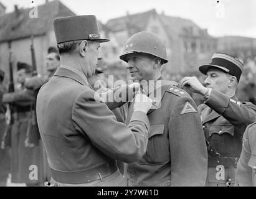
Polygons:
[[149,121],[136,111],[128,127],[95,98],[86,78],[60,66],[37,96],[37,122],[49,166],[59,171],[133,162],[145,153]]

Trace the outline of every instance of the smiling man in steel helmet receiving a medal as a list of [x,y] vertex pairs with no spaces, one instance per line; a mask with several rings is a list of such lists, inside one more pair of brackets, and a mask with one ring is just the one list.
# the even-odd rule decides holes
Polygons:
[[[126,42],[120,56],[131,80],[154,103],[148,111],[148,147],[143,157],[126,165],[129,186],[204,186],[207,150],[201,119],[192,98],[174,81],[164,80],[161,66],[168,62],[166,47],[150,32],[139,32]],[[130,121],[133,103],[128,104]]]

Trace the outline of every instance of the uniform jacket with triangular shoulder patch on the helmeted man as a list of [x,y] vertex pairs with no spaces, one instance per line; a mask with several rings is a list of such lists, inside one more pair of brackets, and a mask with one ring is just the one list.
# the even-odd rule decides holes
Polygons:
[[[157,88],[161,96],[156,97],[148,112],[146,153],[127,165],[128,185],[204,186],[207,150],[196,104],[185,91],[164,84]],[[131,113],[133,103],[129,105],[127,121]]]

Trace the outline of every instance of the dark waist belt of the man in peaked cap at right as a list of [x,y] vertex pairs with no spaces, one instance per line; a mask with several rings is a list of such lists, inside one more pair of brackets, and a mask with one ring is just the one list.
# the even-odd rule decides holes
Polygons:
[[208,157],[208,167],[224,165],[224,167],[237,167],[239,157]]

